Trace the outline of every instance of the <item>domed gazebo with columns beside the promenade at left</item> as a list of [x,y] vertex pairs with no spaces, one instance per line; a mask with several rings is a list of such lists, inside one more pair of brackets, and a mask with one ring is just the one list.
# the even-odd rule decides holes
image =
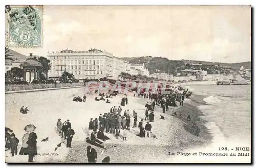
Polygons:
[[32,53],[30,53],[30,58],[25,62],[20,64],[23,68],[23,80],[33,81],[33,79],[38,80],[41,73],[42,64],[34,60]]

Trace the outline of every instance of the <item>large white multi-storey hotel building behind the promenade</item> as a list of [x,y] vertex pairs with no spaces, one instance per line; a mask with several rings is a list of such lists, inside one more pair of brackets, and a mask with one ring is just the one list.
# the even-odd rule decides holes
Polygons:
[[108,77],[118,79],[121,72],[130,71],[130,64],[114,57],[112,53],[90,49],[88,51],[62,50],[48,51],[51,61],[49,77],[60,77],[65,71],[72,73],[77,79],[99,79]]

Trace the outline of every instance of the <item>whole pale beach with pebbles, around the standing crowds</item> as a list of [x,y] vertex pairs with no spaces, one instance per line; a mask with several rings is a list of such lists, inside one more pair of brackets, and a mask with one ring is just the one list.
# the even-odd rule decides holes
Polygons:
[[[25,126],[28,123],[34,123],[36,125],[38,136],[37,151],[41,155],[36,156],[35,162],[87,162],[86,147],[89,144],[86,143],[85,139],[88,136],[89,119],[98,118],[99,114],[108,113],[111,106],[118,106],[120,104],[122,98],[122,95],[118,95],[111,100],[111,104],[108,104],[104,101],[95,102],[94,95],[88,95],[87,102],[82,103],[72,101],[72,97],[74,95],[82,96],[84,94],[83,89],[67,89],[61,92],[63,93],[64,91],[68,94],[62,94],[62,97],[55,96],[57,99],[50,96],[50,94],[54,95],[54,93],[51,93],[53,91],[42,92],[44,94],[40,96],[45,99],[34,102],[35,105],[29,107],[32,112],[26,116],[19,114],[20,116],[13,118],[15,113],[18,113],[20,105],[26,103],[26,101],[20,104],[20,102],[13,100],[6,106],[6,126],[11,127],[17,137],[22,137],[24,133],[20,125]],[[32,96],[37,93],[27,94],[31,94]],[[140,119],[145,117],[145,103],[148,99],[133,96],[128,96],[128,98],[129,104],[122,107],[121,114],[127,109],[130,109],[131,114],[133,109],[135,109],[136,113],[138,113],[138,120],[140,121]],[[52,105],[47,106],[48,103]],[[152,133],[155,137],[141,138],[137,136],[139,128],[131,128],[130,131],[127,131],[127,141],[123,141],[121,138],[116,139],[113,134],[106,133],[111,138],[103,143],[106,149],[94,146],[98,152],[98,162],[101,162],[106,156],[110,156],[111,162],[115,163],[141,162],[141,160],[143,162],[172,162],[174,156],[169,156],[169,152],[186,151],[186,149],[191,147],[207,145],[210,142],[211,136],[203,125],[204,121],[199,118],[202,113],[196,108],[198,104],[202,103],[201,96],[193,95],[191,100],[187,99],[185,101],[183,107],[179,107],[179,104],[178,107],[169,107],[169,111],[165,114],[162,113],[162,109],[159,106],[156,106],[155,121],[151,123],[153,127]],[[40,110],[38,111],[38,109]],[[177,115],[174,115],[175,111]],[[163,115],[165,120],[160,119],[160,115]],[[188,115],[191,117],[191,121],[189,122],[186,121]],[[58,151],[54,152],[54,147],[60,142],[60,138],[55,132],[58,118],[62,120],[69,119],[72,123],[72,128],[75,130],[75,135],[71,149],[62,146]],[[144,125],[145,121],[143,122]],[[131,118],[132,126],[133,118]],[[50,137],[50,142],[41,143],[40,139],[45,137]],[[49,153],[50,155],[42,156],[43,153]],[[54,155],[53,153],[57,154]],[[15,161],[19,157],[20,162],[27,162],[26,156],[10,157],[9,152],[6,152],[6,156],[8,156],[6,157],[6,162],[12,162],[14,157]]]

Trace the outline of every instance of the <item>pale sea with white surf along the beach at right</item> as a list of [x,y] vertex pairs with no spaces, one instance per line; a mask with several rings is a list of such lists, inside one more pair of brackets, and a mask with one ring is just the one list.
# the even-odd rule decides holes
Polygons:
[[[207,147],[195,148],[190,152],[237,153],[236,147],[251,147],[251,86],[250,85],[191,85],[193,94],[204,96],[206,104],[199,105],[202,119],[213,139]],[[225,150],[226,148],[226,150]],[[222,150],[224,149],[224,150]],[[250,151],[242,151],[249,152]],[[241,151],[240,151],[241,152]],[[251,156],[251,155],[250,155]],[[205,162],[250,162],[250,156],[205,157]],[[192,162],[201,157],[191,157]],[[189,162],[189,160],[186,160]]]

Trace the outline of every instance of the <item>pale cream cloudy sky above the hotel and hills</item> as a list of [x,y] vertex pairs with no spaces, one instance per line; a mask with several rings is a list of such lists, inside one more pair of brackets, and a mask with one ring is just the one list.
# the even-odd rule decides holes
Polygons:
[[250,6],[45,6],[43,47],[25,55],[104,49],[116,57],[251,61]]

